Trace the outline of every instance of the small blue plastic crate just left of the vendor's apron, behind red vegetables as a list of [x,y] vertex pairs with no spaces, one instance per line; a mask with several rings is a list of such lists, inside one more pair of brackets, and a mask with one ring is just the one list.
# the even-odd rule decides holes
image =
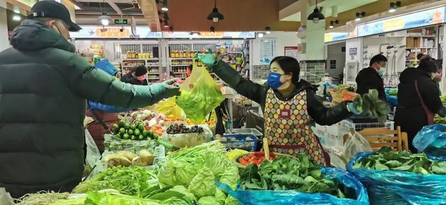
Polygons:
[[[252,140],[245,140],[246,137]],[[259,145],[259,138],[249,134],[229,134],[223,135],[222,138],[226,138],[226,141],[222,141],[223,145],[230,149],[243,149],[246,151],[256,151],[257,145]],[[236,138],[236,141],[231,141],[231,138]]]

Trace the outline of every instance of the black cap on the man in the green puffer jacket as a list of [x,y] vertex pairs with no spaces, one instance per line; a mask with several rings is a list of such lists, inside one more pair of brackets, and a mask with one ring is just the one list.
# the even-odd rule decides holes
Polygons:
[[31,14],[27,18],[61,19],[63,22],[68,24],[68,26],[70,26],[68,29],[69,31],[79,31],[82,29],[80,26],[77,26],[77,24],[71,21],[70,12],[68,9],[63,6],[62,3],[54,0],[38,1],[34,4],[33,8],[31,8]]

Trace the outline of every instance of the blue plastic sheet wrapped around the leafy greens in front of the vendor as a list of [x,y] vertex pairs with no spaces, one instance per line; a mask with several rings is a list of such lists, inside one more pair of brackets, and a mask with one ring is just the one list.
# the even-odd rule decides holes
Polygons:
[[333,167],[323,167],[322,173],[329,179],[338,179],[346,190],[351,190],[355,199],[338,198],[325,193],[307,194],[294,190],[231,190],[224,183],[217,182],[217,187],[238,199],[241,204],[369,204],[369,197],[364,186],[353,175],[344,170]]

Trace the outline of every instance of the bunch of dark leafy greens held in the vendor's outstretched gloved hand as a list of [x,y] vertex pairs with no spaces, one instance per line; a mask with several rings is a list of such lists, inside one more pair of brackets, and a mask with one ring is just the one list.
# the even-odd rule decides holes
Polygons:
[[378,97],[378,90],[371,89],[369,93],[357,95],[353,100],[357,104],[357,110],[371,118],[378,119],[380,124],[387,121],[389,113],[389,105],[386,101],[382,101]]

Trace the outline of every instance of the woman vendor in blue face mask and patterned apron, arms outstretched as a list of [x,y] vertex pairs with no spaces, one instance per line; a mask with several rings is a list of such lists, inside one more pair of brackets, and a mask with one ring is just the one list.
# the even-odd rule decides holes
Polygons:
[[200,54],[199,60],[231,88],[261,105],[265,118],[264,136],[271,151],[307,154],[319,165],[330,165],[328,154],[310,129],[310,121],[330,125],[360,114],[353,103],[326,108],[315,95],[314,85],[299,79],[298,60],[278,56],[270,63],[268,82],[260,85],[244,79],[235,69],[216,60],[213,54]]

